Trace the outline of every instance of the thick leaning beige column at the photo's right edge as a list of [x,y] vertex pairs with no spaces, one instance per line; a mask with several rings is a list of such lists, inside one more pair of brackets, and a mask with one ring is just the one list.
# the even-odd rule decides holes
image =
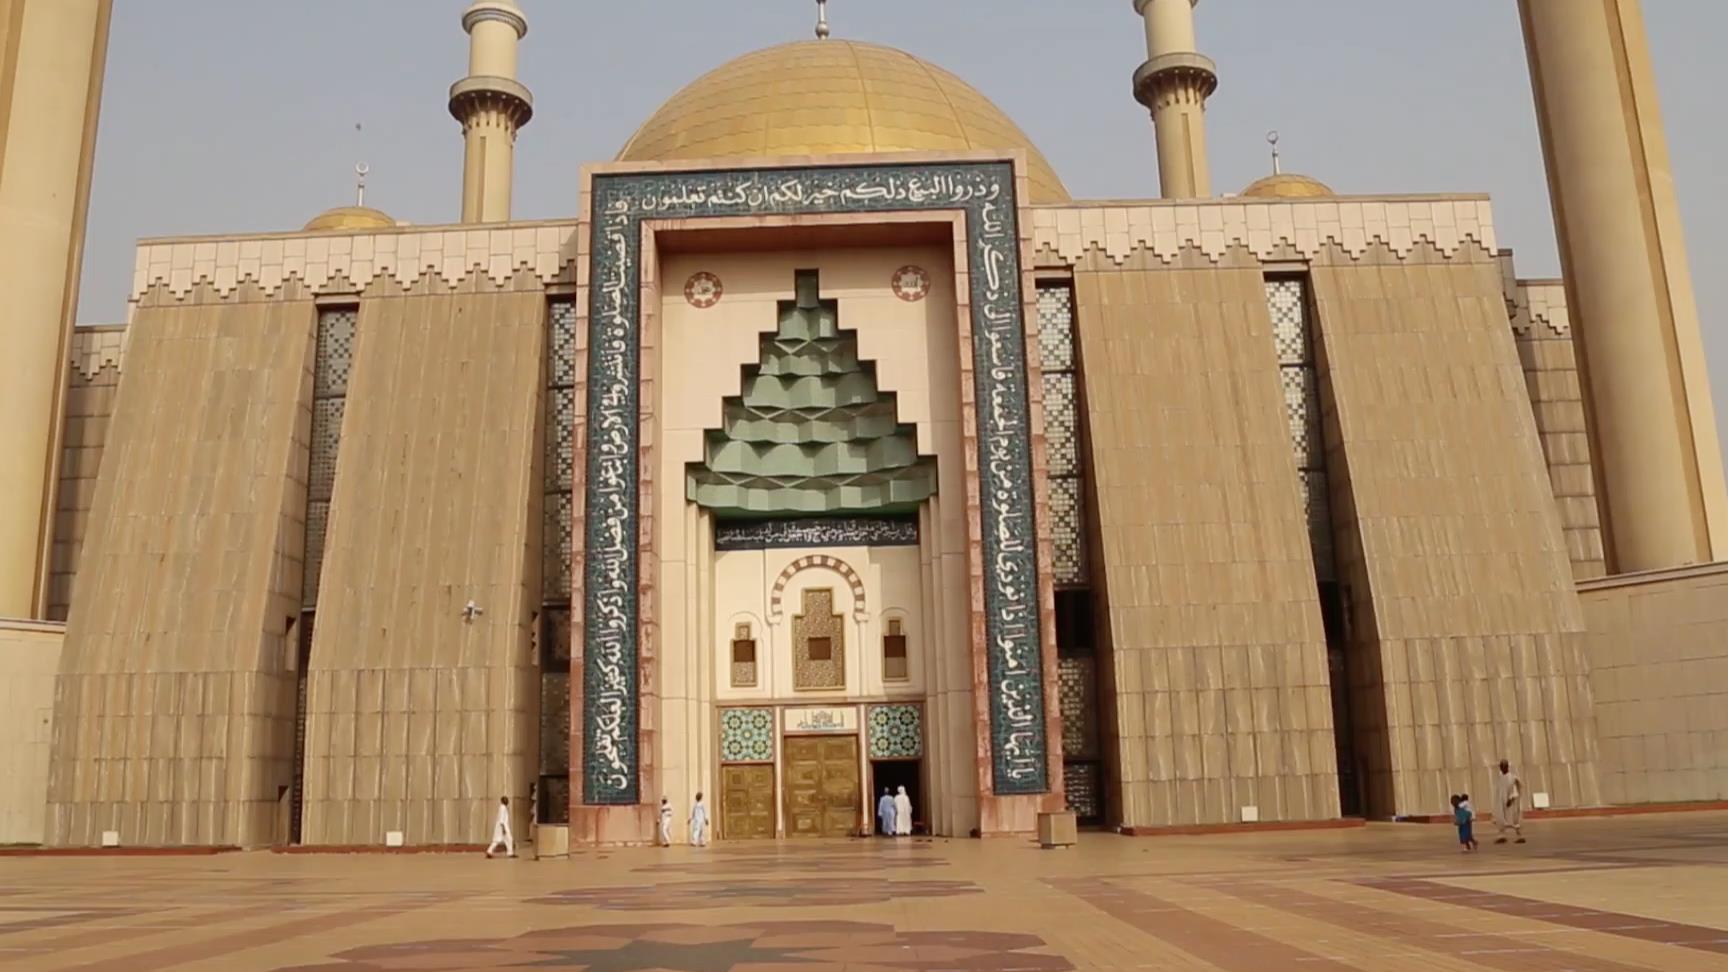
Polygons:
[[1519,0],[1616,572],[1728,557],[1728,484],[1638,0]]

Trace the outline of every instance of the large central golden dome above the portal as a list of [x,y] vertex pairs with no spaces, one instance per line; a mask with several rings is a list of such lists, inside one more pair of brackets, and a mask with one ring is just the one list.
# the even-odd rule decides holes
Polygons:
[[620,163],[1025,149],[1033,202],[1068,190],[1002,109],[904,50],[848,40],[783,43],[703,74],[653,112]]

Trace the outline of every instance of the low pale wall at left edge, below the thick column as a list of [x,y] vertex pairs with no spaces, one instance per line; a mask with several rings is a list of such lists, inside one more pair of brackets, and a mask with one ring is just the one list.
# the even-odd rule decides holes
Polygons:
[[0,621],[0,846],[40,844],[62,624]]

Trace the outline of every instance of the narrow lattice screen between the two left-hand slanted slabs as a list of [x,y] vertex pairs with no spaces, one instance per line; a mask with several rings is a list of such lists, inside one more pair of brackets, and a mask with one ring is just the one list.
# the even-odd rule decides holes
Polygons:
[[335,493],[335,458],[342,446],[342,415],[347,412],[347,375],[354,370],[354,308],[318,315],[318,344],[313,349],[313,429],[306,469],[306,559],[301,564],[301,607],[318,605],[323,576],[325,536],[330,529],[330,496]]

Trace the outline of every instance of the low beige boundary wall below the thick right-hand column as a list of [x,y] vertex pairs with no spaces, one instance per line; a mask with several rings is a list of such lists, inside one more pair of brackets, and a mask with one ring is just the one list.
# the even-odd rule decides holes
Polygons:
[[1728,564],[1579,585],[1602,799],[1728,799]]

